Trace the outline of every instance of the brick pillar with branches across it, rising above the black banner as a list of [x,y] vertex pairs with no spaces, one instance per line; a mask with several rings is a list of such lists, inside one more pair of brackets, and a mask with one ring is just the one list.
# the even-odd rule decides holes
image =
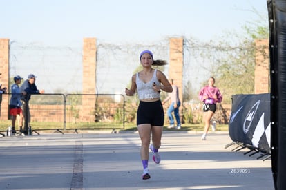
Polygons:
[[269,40],[256,40],[254,93],[269,93]]

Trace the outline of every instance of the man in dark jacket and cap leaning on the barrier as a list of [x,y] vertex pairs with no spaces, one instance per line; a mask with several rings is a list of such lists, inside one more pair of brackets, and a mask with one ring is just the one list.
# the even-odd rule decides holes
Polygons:
[[[28,126],[30,127],[30,108],[29,108],[29,100],[31,99],[32,94],[43,94],[45,93],[44,90],[39,91],[35,82],[36,76],[33,74],[28,75],[28,79],[26,79],[20,87],[21,93],[21,100],[23,103],[23,115],[25,118],[25,122],[27,121],[26,116],[28,116]],[[28,114],[28,115],[27,115]],[[27,130],[27,129],[26,129]]]

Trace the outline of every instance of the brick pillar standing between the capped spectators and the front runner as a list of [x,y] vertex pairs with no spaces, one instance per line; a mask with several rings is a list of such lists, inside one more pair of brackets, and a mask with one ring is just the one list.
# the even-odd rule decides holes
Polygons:
[[[96,86],[96,38],[84,38],[82,57],[82,93],[95,94]],[[82,99],[82,118],[93,122],[95,116],[92,114],[95,109],[95,96],[86,95]]]

